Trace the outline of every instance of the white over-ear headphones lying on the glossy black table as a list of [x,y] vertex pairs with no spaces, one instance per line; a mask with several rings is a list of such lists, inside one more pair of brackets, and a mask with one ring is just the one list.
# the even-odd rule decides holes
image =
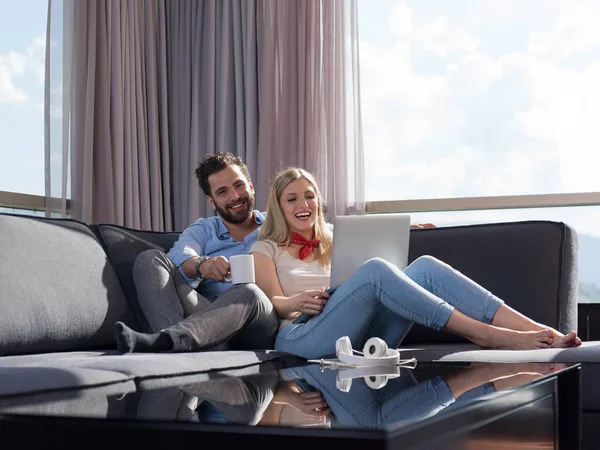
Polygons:
[[400,362],[400,352],[388,348],[383,339],[375,337],[367,340],[363,351],[359,352],[352,348],[348,336],[342,336],[335,341],[335,353],[341,362],[358,367],[396,366]]

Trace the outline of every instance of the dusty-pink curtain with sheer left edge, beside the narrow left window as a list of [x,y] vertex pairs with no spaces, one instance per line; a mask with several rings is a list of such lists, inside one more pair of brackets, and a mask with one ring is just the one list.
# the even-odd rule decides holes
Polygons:
[[50,0],[47,36],[47,215],[172,229],[165,2]]

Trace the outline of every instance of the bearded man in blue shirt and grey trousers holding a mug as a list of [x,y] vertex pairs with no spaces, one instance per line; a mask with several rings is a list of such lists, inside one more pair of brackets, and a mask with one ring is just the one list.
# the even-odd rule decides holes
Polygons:
[[121,353],[198,351],[230,341],[238,349],[270,349],[279,319],[254,284],[231,286],[228,258],[248,253],[263,214],[254,210],[246,165],[231,153],[208,154],[196,169],[198,184],[218,216],[186,228],[168,256],[141,253],[133,267],[149,334],[117,322]]

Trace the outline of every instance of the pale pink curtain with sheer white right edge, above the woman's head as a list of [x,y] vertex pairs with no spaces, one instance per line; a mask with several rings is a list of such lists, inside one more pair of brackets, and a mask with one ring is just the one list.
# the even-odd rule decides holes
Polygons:
[[356,0],[264,2],[259,18],[259,204],[297,165],[317,176],[330,219],[364,214]]

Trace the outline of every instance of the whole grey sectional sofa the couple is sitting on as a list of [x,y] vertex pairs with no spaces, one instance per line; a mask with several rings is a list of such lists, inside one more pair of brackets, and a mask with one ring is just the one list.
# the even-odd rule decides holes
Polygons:
[[[116,321],[137,330],[146,326],[132,282],[136,256],[150,248],[167,251],[178,234],[0,214],[0,408],[18,407],[23,396],[85,390],[93,405],[77,407],[102,414],[122,408],[107,403],[111,393],[174,386],[220,370],[260,371],[285,358],[273,350],[116,352]],[[410,260],[424,254],[446,261],[540,322],[562,332],[577,328],[577,235],[567,224],[411,230]],[[402,358],[419,361],[597,363],[598,350],[594,342],[574,349],[482,350],[417,325],[400,347]]]

